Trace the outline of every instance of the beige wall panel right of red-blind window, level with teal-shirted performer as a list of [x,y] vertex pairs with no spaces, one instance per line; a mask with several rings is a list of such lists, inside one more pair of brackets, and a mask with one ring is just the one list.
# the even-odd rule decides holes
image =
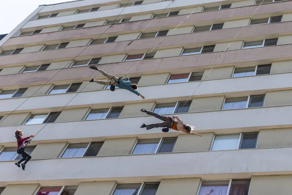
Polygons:
[[208,76],[205,78],[205,80],[219,79],[219,78],[231,78],[232,73],[233,73],[233,68],[234,68],[233,66],[228,66],[228,67],[222,67],[222,68],[213,68],[212,70],[205,69],[202,78],[205,78],[207,75]]

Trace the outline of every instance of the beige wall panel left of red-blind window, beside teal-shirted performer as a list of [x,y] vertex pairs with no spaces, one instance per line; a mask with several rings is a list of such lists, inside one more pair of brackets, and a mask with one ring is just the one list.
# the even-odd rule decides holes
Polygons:
[[142,75],[138,82],[138,86],[158,85],[166,83],[169,73]]

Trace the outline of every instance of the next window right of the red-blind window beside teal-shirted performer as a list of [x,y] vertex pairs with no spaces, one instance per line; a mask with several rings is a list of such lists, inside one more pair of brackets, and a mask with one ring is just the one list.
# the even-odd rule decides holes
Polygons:
[[232,77],[247,77],[254,75],[265,75],[271,73],[272,64],[235,68]]

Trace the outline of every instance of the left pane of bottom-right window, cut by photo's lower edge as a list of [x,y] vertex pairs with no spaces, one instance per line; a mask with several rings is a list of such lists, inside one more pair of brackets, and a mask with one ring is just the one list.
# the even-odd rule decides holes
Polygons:
[[199,195],[205,195],[210,193],[211,189],[214,189],[212,194],[214,195],[227,195],[229,180],[225,181],[202,181]]

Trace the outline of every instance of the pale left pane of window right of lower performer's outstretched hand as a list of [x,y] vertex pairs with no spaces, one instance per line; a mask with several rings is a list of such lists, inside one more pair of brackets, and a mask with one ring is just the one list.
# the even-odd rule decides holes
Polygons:
[[211,150],[236,150],[239,136],[240,134],[216,135]]

